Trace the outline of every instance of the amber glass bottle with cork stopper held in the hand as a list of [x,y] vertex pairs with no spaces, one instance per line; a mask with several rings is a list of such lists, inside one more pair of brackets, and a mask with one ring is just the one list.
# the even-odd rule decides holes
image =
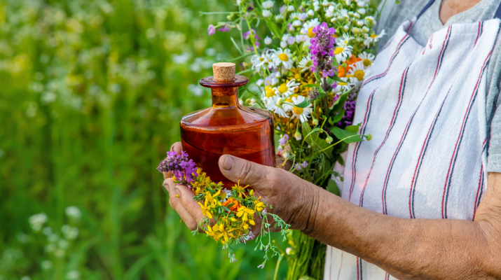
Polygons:
[[200,85],[212,90],[212,107],[181,119],[181,143],[212,181],[222,181],[226,188],[231,188],[233,183],[219,170],[221,155],[275,166],[273,116],[263,109],[240,106],[238,87],[249,79],[235,76],[235,64],[221,62],[214,64],[213,69],[214,76],[200,80]]

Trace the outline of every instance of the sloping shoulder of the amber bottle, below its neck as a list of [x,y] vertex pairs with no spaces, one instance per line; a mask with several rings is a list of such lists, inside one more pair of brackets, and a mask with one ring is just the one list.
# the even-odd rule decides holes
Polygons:
[[266,110],[238,106],[233,108],[207,108],[194,111],[181,118],[181,127],[252,127],[273,121],[273,116]]

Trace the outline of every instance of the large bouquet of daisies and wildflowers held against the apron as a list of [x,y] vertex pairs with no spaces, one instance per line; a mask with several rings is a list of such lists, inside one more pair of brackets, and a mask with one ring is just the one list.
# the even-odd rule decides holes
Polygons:
[[[207,29],[239,34],[231,42],[245,59],[240,73],[254,83],[240,92],[249,106],[273,113],[282,167],[338,194],[332,179],[341,153],[361,135],[353,124],[357,93],[375,59],[376,10],[366,0],[237,0],[238,11]],[[210,14],[210,13],[202,13]],[[263,44],[262,44],[263,43]],[[288,279],[323,275],[325,247],[289,235]]]

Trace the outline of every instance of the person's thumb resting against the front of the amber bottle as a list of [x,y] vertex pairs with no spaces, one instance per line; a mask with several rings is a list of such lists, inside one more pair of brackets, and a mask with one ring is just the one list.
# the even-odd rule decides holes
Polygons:
[[262,186],[263,183],[269,183],[268,177],[273,174],[275,169],[233,155],[221,155],[218,163],[221,173],[230,181],[237,183],[240,180],[242,185],[251,186]]

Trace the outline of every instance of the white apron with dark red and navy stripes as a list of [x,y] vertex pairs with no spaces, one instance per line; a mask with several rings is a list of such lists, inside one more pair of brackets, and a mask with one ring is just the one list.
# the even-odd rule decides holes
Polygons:
[[[486,192],[486,73],[501,14],[455,24],[425,46],[404,22],[376,57],[354,123],[371,141],[350,144],[341,196],[399,218],[472,221]],[[324,279],[394,279],[331,246]]]

